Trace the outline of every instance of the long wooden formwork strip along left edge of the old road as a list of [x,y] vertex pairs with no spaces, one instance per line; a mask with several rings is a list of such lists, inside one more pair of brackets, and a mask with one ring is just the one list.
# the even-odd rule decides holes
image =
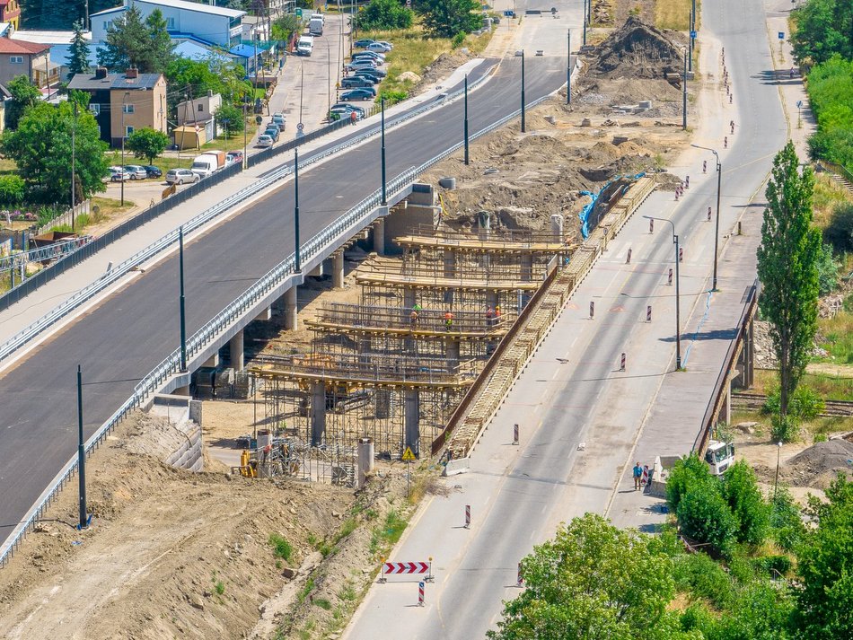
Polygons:
[[620,231],[654,188],[655,180],[650,178],[635,182],[611,207],[611,214],[605,217],[607,226],[596,228],[573,253],[566,267],[551,272],[488,359],[444,432],[433,442],[433,455],[445,447],[448,459],[463,458],[470,453],[524,365],[557,320],[563,305],[606,248],[608,239]]

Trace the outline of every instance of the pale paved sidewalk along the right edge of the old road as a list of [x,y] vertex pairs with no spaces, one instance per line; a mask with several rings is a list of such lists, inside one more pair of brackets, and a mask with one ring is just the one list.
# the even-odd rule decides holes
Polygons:
[[[789,79],[791,68],[790,47],[783,44],[783,56],[778,51],[778,31],[787,33],[787,15],[790,4],[785,0],[765,0],[767,31],[773,55],[774,77],[769,84],[778,87],[779,98],[787,121],[788,135],[805,161],[805,141],[813,132],[814,121],[807,108],[807,97],[801,78]],[[775,41],[774,41],[775,40]],[[708,49],[707,44],[705,48]],[[713,58],[711,58],[713,60]],[[707,66],[703,68],[708,69]],[[796,102],[802,104],[802,127],[797,127]],[[793,109],[792,109],[793,107]],[[619,527],[654,530],[655,525],[666,522],[665,500],[633,490],[631,468],[635,461],[650,468],[655,456],[684,455],[696,438],[711,390],[717,381],[725,358],[725,347],[734,338],[736,323],[743,311],[743,293],[756,276],[756,249],[761,243],[763,188],[750,198],[737,219],[742,223],[743,235],[731,235],[725,240],[723,233],[731,227],[720,226],[721,251],[719,257],[719,292],[710,294],[710,281],[689,319],[682,329],[682,361],[685,373],[672,373],[662,382],[642,432],[623,468],[619,486],[611,497],[607,515]],[[725,205],[724,205],[725,206]],[[726,208],[731,208],[728,206]],[[715,339],[716,337],[716,339]]]

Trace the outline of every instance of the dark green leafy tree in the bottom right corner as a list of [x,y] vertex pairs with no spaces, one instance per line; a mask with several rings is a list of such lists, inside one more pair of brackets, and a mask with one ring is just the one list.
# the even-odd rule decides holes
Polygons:
[[797,549],[796,629],[810,640],[853,637],[853,483],[842,475],[811,506],[816,530]]

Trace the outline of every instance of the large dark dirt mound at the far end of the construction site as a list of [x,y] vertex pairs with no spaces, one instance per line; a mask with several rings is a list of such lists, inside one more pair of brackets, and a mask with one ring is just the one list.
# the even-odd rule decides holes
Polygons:
[[636,16],[595,48],[588,75],[601,78],[663,78],[677,73],[682,53],[673,39]]

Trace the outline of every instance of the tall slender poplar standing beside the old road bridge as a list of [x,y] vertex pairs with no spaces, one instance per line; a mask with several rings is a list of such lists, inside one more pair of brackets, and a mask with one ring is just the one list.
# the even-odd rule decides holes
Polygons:
[[[778,425],[782,427],[787,427],[788,403],[805,373],[817,330],[821,233],[812,227],[813,188],[812,169],[805,167],[800,173],[799,158],[789,141],[773,161],[758,249],[759,306],[769,320],[779,363]],[[790,439],[793,429],[782,428],[778,435]]]

